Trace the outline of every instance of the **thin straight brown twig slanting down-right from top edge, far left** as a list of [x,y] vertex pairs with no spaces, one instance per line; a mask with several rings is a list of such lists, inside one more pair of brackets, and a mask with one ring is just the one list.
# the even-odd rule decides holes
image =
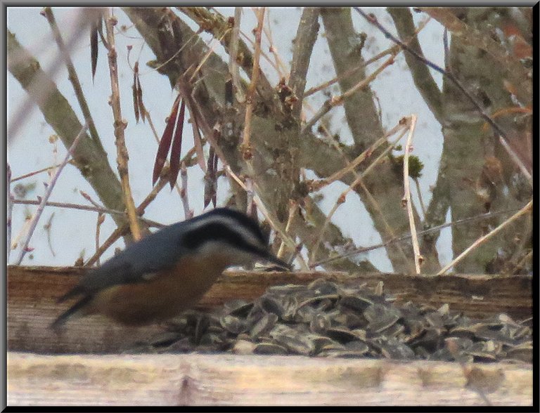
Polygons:
[[101,144],[101,139],[99,138],[96,125],[94,124],[94,119],[92,119],[88,103],[86,103],[86,98],[84,96],[84,92],[82,91],[81,83],[79,81],[79,77],[77,76],[77,71],[75,70],[75,65],[73,65],[73,62],[71,60],[70,51],[65,46],[65,43],[62,39],[62,35],[60,34],[60,30],[58,29],[58,25],[56,24],[56,19],[54,18],[53,11],[50,7],[45,7],[42,13],[45,15],[47,21],[49,22],[49,25],[51,26],[54,39],[56,40],[56,44],[58,44],[58,48],[62,53],[63,59],[65,60],[65,66],[68,68],[69,79],[73,86],[73,90],[75,91],[75,96],[77,97],[77,101],[79,102],[79,106],[81,107],[84,119],[87,120],[89,125],[88,129],[90,132],[90,136],[92,137],[92,139],[94,139],[96,145],[98,145],[98,147],[100,147],[101,150],[105,152],[105,150],[103,149],[103,145]]

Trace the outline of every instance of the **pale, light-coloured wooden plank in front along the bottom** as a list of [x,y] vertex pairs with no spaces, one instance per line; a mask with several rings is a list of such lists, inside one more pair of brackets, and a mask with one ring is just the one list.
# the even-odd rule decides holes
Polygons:
[[[532,366],[242,355],[8,353],[19,405],[532,405]],[[480,395],[481,389],[485,398]]]

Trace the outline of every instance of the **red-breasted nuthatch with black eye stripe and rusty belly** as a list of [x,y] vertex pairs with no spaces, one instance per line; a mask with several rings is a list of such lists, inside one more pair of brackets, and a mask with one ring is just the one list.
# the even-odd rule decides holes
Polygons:
[[289,268],[271,254],[256,221],[214,209],[162,228],[90,270],[58,299],[82,296],[51,327],[94,313],[125,325],[167,320],[197,303],[225,268],[254,261]]

